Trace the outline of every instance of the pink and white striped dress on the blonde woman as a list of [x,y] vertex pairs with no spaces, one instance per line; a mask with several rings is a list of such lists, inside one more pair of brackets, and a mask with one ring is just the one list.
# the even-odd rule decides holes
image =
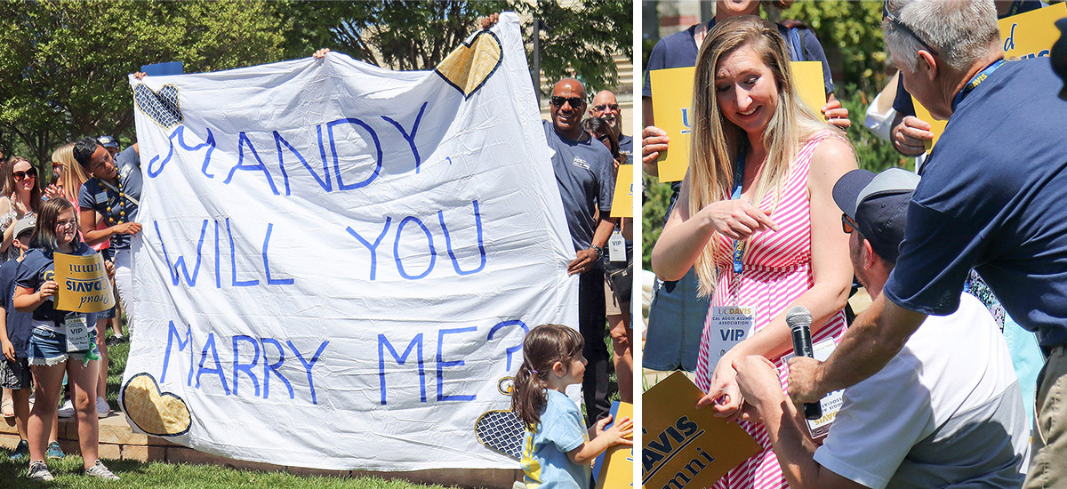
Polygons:
[[[711,305],[744,305],[755,306],[755,331],[770,324],[771,319],[784,314],[785,310],[814,285],[811,270],[811,215],[808,202],[808,170],[811,155],[815,146],[828,137],[830,132],[822,132],[809,140],[793,161],[789,180],[782,188],[781,202],[770,218],[779,225],[778,232],[764,232],[752,235],[748,240],[743,264],[745,271],[740,275],[733,273],[732,242],[722,235],[719,239],[715,261],[718,267],[718,285],[712,297]],[[769,208],[774,203],[773,192],[763,196],[760,207]],[[845,314],[839,311],[827,326],[813,333],[812,341],[817,343],[827,337],[840,341],[845,331]],[[712,313],[708,310],[704,320],[704,332],[700,340],[700,354],[697,361],[697,385],[707,392],[711,385],[714,364],[708,364],[708,345],[712,333]],[[771,359],[779,368],[781,358]],[[781,374],[782,390],[785,389],[785,373]],[[727,473],[714,486],[726,488],[787,488],[789,484],[782,475],[778,458],[770,448],[763,425],[742,422],[752,438],[764,449],[754,457],[742,462]]]

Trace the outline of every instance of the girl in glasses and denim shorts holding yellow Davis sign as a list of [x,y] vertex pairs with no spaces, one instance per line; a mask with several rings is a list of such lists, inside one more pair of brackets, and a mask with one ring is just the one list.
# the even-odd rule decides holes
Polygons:
[[[85,475],[118,479],[97,459],[99,424],[96,414],[97,354],[96,330],[89,328],[84,313],[55,310],[59,285],[55,283],[53,253],[92,255],[96,253],[81,240],[74,205],[66,199],[46,202],[37,214],[37,225],[30,238],[33,250],[27,253],[15,278],[15,309],[33,313],[29,359],[33,370],[36,401],[30,411],[30,470],[27,476],[51,480],[45,464],[45,441],[55,415],[63,375],[70,380],[78,416],[78,443]],[[114,268],[108,267],[108,274]]]

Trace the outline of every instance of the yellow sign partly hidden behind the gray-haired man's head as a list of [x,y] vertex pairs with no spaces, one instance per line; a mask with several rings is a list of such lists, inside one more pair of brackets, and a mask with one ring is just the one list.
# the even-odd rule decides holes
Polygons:
[[[1060,38],[1056,20],[1067,17],[1067,3],[1056,3],[1024,14],[1004,17],[998,21],[1001,30],[1001,42],[1004,48],[1004,59],[1008,61],[1047,57],[1052,45]],[[930,124],[934,140],[926,142],[926,153],[937,144],[944,132],[947,121],[935,121],[929,111],[912,100],[915,105],[915,116]]]

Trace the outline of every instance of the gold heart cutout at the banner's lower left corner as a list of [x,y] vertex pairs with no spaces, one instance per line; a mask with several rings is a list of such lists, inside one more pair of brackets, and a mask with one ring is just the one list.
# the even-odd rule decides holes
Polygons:
[[123,387],[123,411],[142,431],[157,437],[173,437],[189,431],[192,416],[180,397],[161,392],[150,374],[138,374]]

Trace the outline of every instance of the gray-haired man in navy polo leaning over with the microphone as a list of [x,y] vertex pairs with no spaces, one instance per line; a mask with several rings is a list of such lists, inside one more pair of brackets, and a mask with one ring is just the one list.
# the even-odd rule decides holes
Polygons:
[[[992,2],[896,0],[882,29],[904,84],[949,120],[908,207],[881,296],[826,362],[794,359],[810,403],[881,369],[926,315],[951,314],[974,268],[1048,356],[1023,487],[1067,486],[1067,101],[1048,58],[1004,62]],[[951,116],[951,119],[950,119]]]

